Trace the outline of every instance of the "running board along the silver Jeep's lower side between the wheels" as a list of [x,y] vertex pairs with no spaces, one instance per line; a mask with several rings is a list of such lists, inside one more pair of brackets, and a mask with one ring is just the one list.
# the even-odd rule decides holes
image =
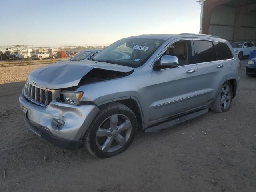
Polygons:
[[164,123],[156,125],[154,127],[147,128],[147,129],[145,129],[145,132],[146,133],[151,133],[151,132],[157,132],[157,131],[160,131],[160,130],[163,130],[163,129],[166,129],[166,128],[170,128],[174,125],[180,124],[180,123],[185,122],[187,120],[190,120],[190,119],[196,118],[198,116],[204,115],[204,114],[208,113],[208,111],[209,111],[209,109],[200,110],[198,112],[191,113],[191,114],[176,118],[174,120],[170,120],[168,122],[164,122]]

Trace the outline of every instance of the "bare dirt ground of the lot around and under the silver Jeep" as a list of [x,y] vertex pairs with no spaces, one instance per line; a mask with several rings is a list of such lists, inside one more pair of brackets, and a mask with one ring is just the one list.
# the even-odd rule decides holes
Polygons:
[[26,127],[18,96],[40,67],[0,68],[0,192],[255,192],[256,78],[240,70],[230,111],[140,133],[108,159],[68,151]]

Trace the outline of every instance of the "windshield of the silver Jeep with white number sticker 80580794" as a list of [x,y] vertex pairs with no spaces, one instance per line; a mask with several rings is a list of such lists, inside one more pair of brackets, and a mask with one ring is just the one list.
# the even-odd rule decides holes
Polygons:
[[99,52],[92,60],[139,67],[150,58],[163,42],[164,40],[159,39],[122,39]]

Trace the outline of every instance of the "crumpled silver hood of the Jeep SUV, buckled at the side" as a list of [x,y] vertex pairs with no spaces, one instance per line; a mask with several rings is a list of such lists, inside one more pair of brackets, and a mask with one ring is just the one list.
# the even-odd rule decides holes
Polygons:
[[93,68],[112,70],[118,72],[130,72],[132,67],[96,61],[61,61],[33,70],[29,76],[30,83],[36,81],[36,85],[48,89],[61,89],[77,86],[83,76]]

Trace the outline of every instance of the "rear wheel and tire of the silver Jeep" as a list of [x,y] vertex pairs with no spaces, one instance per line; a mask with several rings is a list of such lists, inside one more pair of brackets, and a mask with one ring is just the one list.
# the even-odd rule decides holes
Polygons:
[[210,109],[217,113],[226,112],[230,109],[233,98],[232,86],[229,82],[225,82],[222,85],[222,89],[215,98]]

